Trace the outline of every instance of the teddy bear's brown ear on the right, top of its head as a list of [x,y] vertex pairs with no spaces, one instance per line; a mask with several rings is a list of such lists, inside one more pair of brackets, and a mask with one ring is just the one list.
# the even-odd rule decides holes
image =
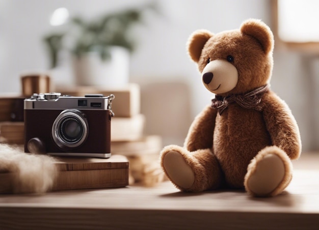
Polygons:
[[263,51],[267,54],[273,51],[274,35],[269,26],[258,19],[248,19],[241,25],[243,34],[254,37],[262,46]]

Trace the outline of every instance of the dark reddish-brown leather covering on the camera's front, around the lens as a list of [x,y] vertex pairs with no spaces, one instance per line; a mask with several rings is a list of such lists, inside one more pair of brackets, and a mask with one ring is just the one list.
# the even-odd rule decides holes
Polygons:
[[81,110],[88,121],[88,137],[79,147],[64,151],[52,139],[52,125],[63,110],[24,109],[24,152],[28,141],[41,139],[47,153],[111,153],[111,116],[109,110]]

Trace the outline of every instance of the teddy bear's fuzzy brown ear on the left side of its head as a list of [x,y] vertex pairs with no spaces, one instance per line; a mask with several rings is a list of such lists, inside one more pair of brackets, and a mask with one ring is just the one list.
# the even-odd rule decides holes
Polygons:
[[213,36],[212,33],[206,30],[197,30],[189,38],[187,49],[191,59],[194,62],[199,61],[202,49],[209,38]]

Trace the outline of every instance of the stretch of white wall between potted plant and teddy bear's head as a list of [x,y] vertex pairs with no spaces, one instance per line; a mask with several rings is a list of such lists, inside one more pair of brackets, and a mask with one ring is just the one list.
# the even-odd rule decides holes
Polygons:
[[144,29],[143,45],[132,59],[132,79],[142,82],[150,78],[178,78],[189,82],[193,90],[195,115],[209,103],[212,95],[203,88],[197,66],[187,54],[188,37],[201,28],[213,33],[231,30],[250,17],[268,23],[269,1],[162,0],[159,3],[164,16],[152,17],[152,26]]

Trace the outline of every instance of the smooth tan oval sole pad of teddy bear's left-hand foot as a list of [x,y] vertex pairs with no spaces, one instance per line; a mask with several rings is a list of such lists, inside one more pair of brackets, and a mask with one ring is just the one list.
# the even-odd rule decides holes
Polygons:
[[194,184],[194,172],[180,153],[176,151],[166,153],[163,159],[163,166],[169,178],[177,186],[187,189]]

